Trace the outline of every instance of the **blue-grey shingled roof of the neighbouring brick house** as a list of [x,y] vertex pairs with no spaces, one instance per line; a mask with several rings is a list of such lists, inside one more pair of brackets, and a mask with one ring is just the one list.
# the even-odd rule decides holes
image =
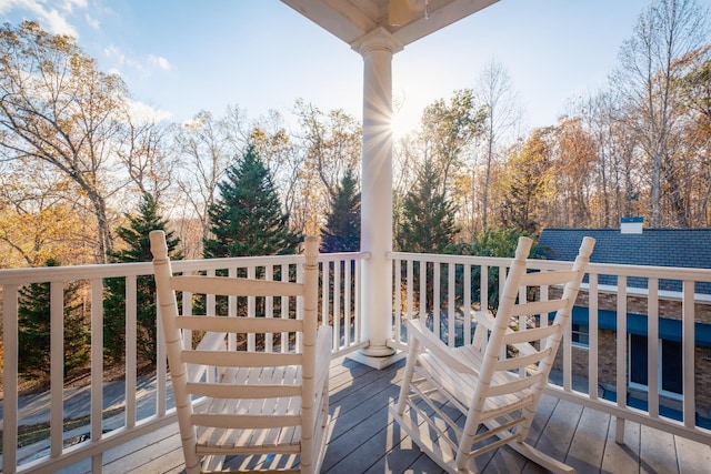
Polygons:
[[[711,269],[711,229],[644,229],[642,233],[621,233],[619,229],[545,229],[538,252],[549,260],[572,261],[585,235],[597,240],[592,263]],[[645,282],[628,284],[647,286]],[[660,290],[664,288],[678,291],[681,282],[660,282]],[[697,292],[711,293],[711,285],[698,283]]]

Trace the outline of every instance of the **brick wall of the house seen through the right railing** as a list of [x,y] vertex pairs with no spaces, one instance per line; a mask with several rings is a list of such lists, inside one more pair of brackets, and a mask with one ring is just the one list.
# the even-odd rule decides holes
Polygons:
[[[553,291],[551,291],[552,293]],[[599,294],[598,307],[600,310],[617,311],[617,294]],[[645,297],[628,296],[627,311],[629,313],[647,314],[648,304]],[[575,305],[589,307],[589,295],[585,291],[580,291]],[[660,317],[681,320],[681,301],[659,301]],[[711,324],[711,304],[697,303],[694,305],[694,320]],[[614,390],[617,383],[617,332],[600,330],[598,333],[598,382],[599,396],[602,390]],[[562,352],[559,351],[553,369],[562,367]],[[587,347],[572,347],[572,371],[573,375],[588,377],[589,350]],[[625,364],[627,366],[627,364]],[[695,401],[697,411],[709,417],[711,415],[711,347],[695,347],[694,356],[695,372]],[[643,394],[635,394],[643,395]],[[673,405],[674,402],[669,401]]]

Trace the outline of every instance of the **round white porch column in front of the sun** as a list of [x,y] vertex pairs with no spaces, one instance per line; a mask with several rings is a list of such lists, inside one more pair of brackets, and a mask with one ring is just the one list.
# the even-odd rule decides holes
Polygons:
[[[392,56],[402,46],[380,28],[352,44],[363,57],[363,157],[360,248],[370,252],[361,276],[361,354],[387,357],[392,333]],[[359,359],[360,360],[360,359]],[[361,360],[369,365],[387,363]]]

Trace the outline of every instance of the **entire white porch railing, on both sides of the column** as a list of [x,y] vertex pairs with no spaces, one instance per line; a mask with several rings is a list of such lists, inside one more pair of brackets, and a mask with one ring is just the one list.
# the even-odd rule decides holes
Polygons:
[[[334,326],[333,354],[343,354],[362,347],[367,342],[361,341],[361,304],[360,304],[360,268],[367,254],[322,254],[319,259],[322,268],[321,286],[321,317]],[[432,327],[440,333],[443,341],[455,345],[470,342],[472,334],[472,307],[479,306],[481,301],[489,299],[489,273],[505,274],[509,259],[457,256],[457,255],[423,255],[423,254],[391,254],[394,265],[397,285],[393,293],[393,340],[392,345],[403,349],[407,335],[403,321],[419,315],[420,307],[427,307],[432,320]],[[250,275],[274,273],[288,274],[299,261],[299,256],[276,258],[244,258],[202,261],[176,261],[173,268],[180,272],[217,272],[228,270],[231,274],[238,271]],[[551,269],[563,265],[560,262],[533,261],[534,269]],[[281,271],[280,271],[281,270]],[[168,382],[168,367],[162,344],[158,344],[156,373],[150,379],[149,390],[143,391],[146,380],[138,374],[136,357],[136,326],[137,326],[137,279],[151,274],[150,263],[88,265],[76,268],[47,268],[27,270],[0,270],[0,288],[2,291],[3,314],[3,401],[2,401],[2,472],[30,473],[56,472],[78,462],[90,460],[93,472],[100,472],[103,453],[112,447],[128,443],[139,436],[148,434],[160,426],[174,421],[171,391]],[[292,271],[293,273],[293,271]],[[326,276],[324,276],[326,275]],[[581,379],[573,375],[573,347],[571,333],[567,334],[561,347],[560,384],[551,385],[549,392],[554,396],[571,400],[574,403],[594,407],[621,420],[632,420],[665,432],[684,437],[711,443],[711,432],[695,422],[698,412],[697,389],[694,386],[695,361],[694,324],[695,309],[710,304],[708,294],[694,292],[699,283],[711,282],[711,271],[668,268],[642,268],[629,265],[589,266],[589,347],[587,349],[588,373]],[[607,283],[608,275],[613,275],[615,284]],[[109,397],[107,384],[103,381],[103,280],[108,278],[126,279],[126,316],[127,316],[127,347],[126,377],[121,383],[122,400],[108,410]],[[643,278],[648,282],[647,289],[628,284],[629,281]],[[659,282],[673,280],[679,283],[679,291],[660,290]],[[87,424],[80,431],[64,431],[64,418],[72,401],[70,390],[64,387],[63,381],[63,339],[62,289],[72,282],[86,282],[88,305],[91,307],[91,377],[87,389],[90,403],[86,407]],[[429,285],[428,285],[428,282]],[[438,284],[434,284],[438,282]],[[50,390],[44,394],[40,418],[49,423],[49,436],[29,446],[18,446],[18,433],[27,424],[33,424],[38,418],[31,418],[27,411],[19,410],[18,397],[18,291],[29,283],[49,283],[51,293],[50,317],[52,322],[52,346]],[[418,283],[418,285],[415,285]],[[387,282],[383,282],[387,284]],[[464,291],[463,289],[468,289]],[[481,290],[479,290],[481,289]],[[495,289],[492,289],[495,290]],[[659,413],[660,399],[663,394],[658,389],[655,361],[659,357],[658,344],[649,344],[649,391],[647,393],[647,410],[633,407],[627,396],[629,380],[629,349],[625,337],[618,337],[615,354],[600,353],[599,345],[599,310],[601,300],[609,294],[618,297],[617,329],[627,330],[628,296],[643,296],[648,301],[648,314],[659,314],[660,306],[668,301],[681,304],[682,321],[682,352],[683,352],[683,394],[681,395],[681,420],[669,418]],[[545,297],[543,295],[543,297]],[[214,302],[208,302],[208,311]],[[250,303],[248,302],[248,305]],[[254,307],[253,303],[250,306]],[[249,311],[252,311],[249,310]],[[232,310],[230,310],[232,311]],[[340,314],[332,319],[332,314]],[[326,316],[324,316],[326,315]],[[545,323],[545,319],[542,319]],[[709,323],[709,321],[705,321]],[[529,321],[524,323],[530,323]],[[657,317],[648,319],[650,340],[659,335]],[[160,334],[160,331],[158,332]],[[600,395],[598,366],[603,357],[614,357],[617,379],[613,387],[617,400],[609,401]],[[654,370],[652,370],[654,367]],[[150,396],[141,396],[140,393]],[[118,413],[118,414],[112,414]],[[111,415],[112,414],[112,415]],[[109,416],[110,415],[110,416]],[[74,415],[72,415],[74,416]],[[109,416],[109,417],[107,417]],[[618,423],[618,435],[620,426]],[[87,436],[78,436],[84,435]],[[81,442],[66,446],[68,438]]]

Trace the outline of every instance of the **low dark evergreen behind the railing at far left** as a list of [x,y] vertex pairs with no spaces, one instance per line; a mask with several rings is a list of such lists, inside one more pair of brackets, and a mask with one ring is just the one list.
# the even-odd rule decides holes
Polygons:
[[[46,266],[59,266],[48,260]],[[88,332],[83,324],[81,302],[77,296],[78,285],[64,288],[64,373],[81,367],[89,360]],[[50,367],[50,284],[32,283],[20,289],[18,307],[18,360],[19,373],[33,380],[49,379]]]

